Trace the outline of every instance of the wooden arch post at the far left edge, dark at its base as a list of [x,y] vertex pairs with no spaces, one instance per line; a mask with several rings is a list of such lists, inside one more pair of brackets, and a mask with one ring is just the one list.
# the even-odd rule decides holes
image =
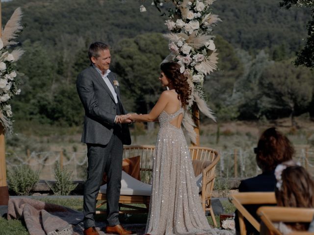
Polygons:
[[[0,0],[0,38],[2,33],[1,24],[1,0]],[[6,164],[5,164],[5,139],[4,127],[0,124],[0,206],[8,205],[9,192],[6,184]]]

